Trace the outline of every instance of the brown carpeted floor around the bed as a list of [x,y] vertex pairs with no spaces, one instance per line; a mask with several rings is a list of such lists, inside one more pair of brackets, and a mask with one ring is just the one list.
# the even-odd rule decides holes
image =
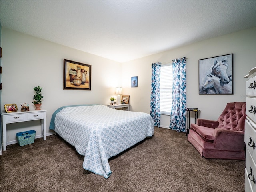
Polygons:
[[245,161],[204,159],[185,133],[155,128],[152,138],[109,160],[105,179],[82,168],[84,156],[52,135],[0,156],[1,192],[242,192]]

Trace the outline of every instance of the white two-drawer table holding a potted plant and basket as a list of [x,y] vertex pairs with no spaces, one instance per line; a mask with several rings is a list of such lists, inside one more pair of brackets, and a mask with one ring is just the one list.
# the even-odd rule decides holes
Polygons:
[[32,110],[26,112],[11,112],[11,113],[2,113],[3,118],[3,143],[4,151],[6,151],[6,124],[41,120],[41,137],[44,137],[46,140],[46,110]]

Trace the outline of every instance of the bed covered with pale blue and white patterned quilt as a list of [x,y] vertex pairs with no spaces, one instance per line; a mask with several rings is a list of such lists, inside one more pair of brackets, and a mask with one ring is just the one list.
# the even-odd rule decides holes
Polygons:
[[104,105],[63,106],[50,122],[64,140],[84,156],[83,168],[108,178],[108,159],[154,134],[154,121],[143,112]]

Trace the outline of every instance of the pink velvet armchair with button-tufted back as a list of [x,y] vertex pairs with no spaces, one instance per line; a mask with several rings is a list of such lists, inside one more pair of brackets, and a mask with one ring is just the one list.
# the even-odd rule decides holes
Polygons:
[[228,103],[217,121],[198,119],[188,141],[204,158],[244,160],[246,103]]

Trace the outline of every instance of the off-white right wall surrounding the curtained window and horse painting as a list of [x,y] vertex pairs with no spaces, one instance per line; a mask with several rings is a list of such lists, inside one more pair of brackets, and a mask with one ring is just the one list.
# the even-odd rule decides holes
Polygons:
[[[154,46],[154,45],[152,45]],[[225,54],[234,54],[233,58],[233,95],[199,95],[198,60]],[[175,58],[186,60],[187,107],[201,110],[199,118],[217,120],[226,103],[245,102],[244,76],[256,66],[256,28],[250,28],[225,36],[190,44],[159,54],[154,54],[122,64],[122,86],[130,94],[132,110],[150,112],[151,63],[170,62]],[[131,88],[130,78],[138,76],[138,88]],[[191,113],[191,123],[194,113]],[[170,116],[161,116],[161,126],[168,128]]]

